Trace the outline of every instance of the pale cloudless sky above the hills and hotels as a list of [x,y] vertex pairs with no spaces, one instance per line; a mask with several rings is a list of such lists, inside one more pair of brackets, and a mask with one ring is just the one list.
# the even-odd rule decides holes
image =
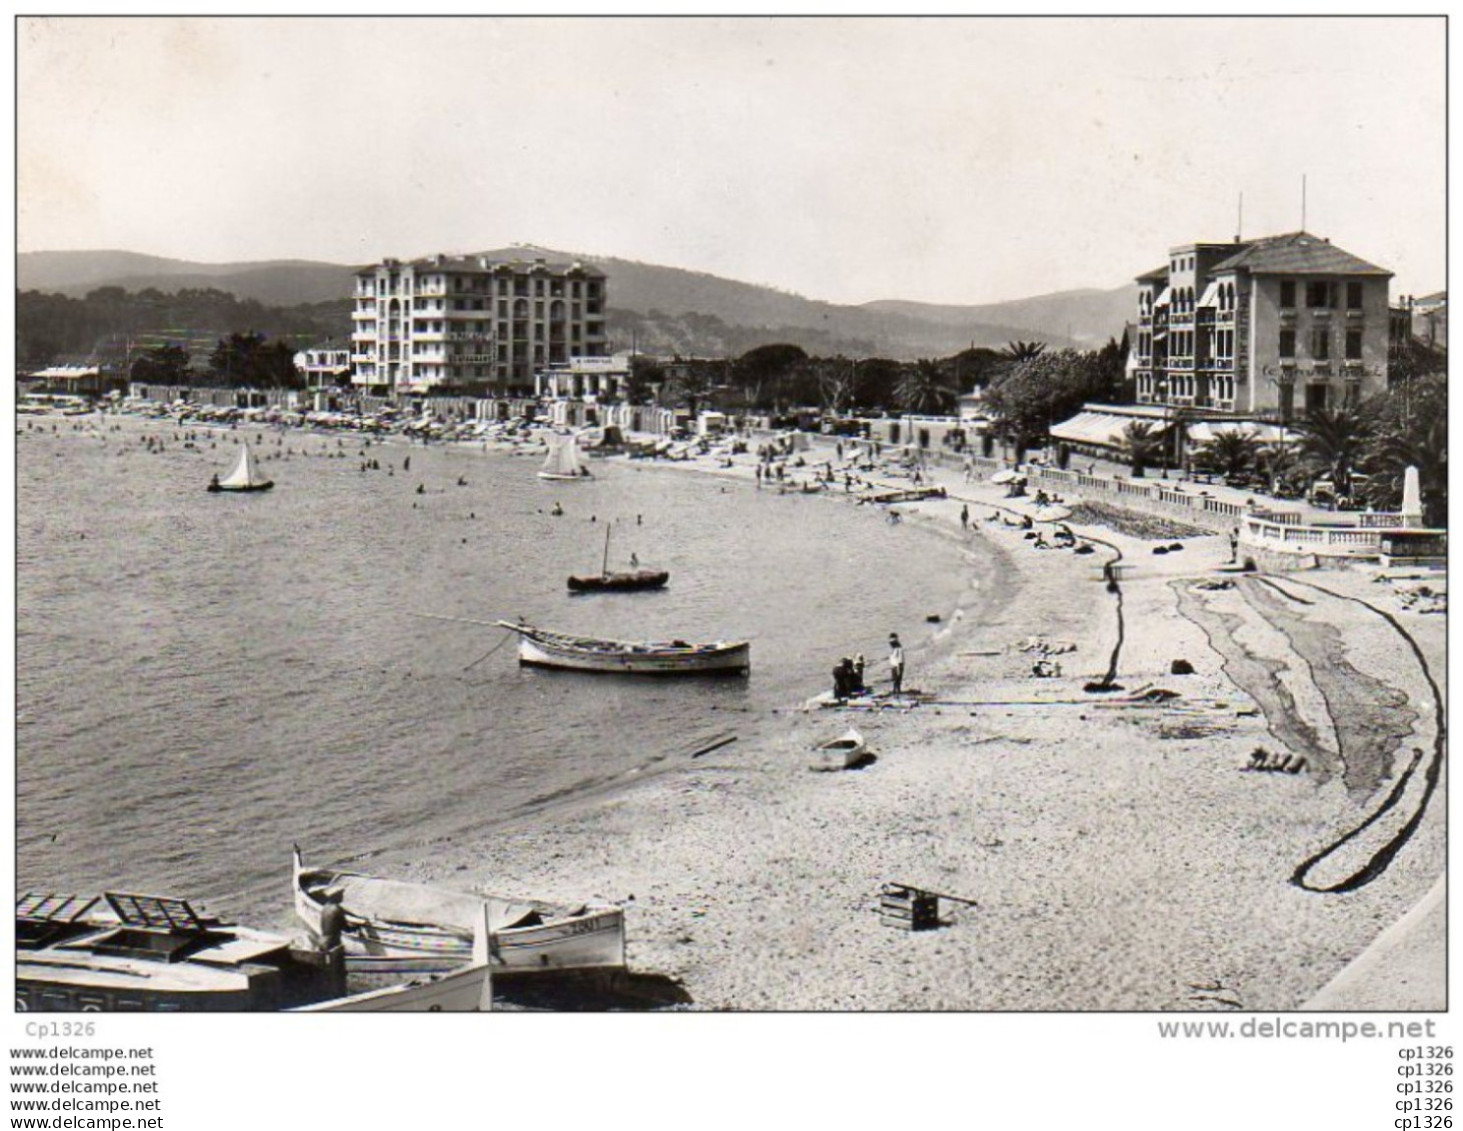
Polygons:
[[1447,285],[1440,18],[88,16],[16,45],[20,252],[530,243],[969,304],[1304,208],[1394,297]]

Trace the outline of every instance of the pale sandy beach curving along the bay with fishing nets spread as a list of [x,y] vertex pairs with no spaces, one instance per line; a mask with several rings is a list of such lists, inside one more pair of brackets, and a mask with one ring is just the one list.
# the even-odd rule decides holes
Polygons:
[[[753,490],[753,467],[616,473]],[[891,537],[911,555],[980,540],[1001,569],[906,639],[917,696],[809,710],[790,692],[771,726],[683,767],[370,871],[620,903],[631,969],[677,988],[672,1008],[753,1011],[1295,1010],[1428,894],[1444,869],[1444,616],[1366,572],[1226,571],[1223,536],[1151,519],[1071,522],[1094,553],[1036,549],[1007,521],[1030,499],[929,474],[948,497],[900,506]],[[853,500],[840,486],[827,505]],[[1119,556],[1113,591],[1103,565]],[[869,628],[875,692],[885,632]],[[1042,642],[1056,676],[1033,675]],[[1115,657],[1115,686],[1084,689]],[[809,657],[811,682],[835,660]],[[850,724],[873,758],[811,771],[811,748]],[[1257,748],[1305,768],[1246,770]],[[938,929],[891,929],[891,882],[961,901],[941,901]],[[1444,1008],[1437,995],[1374,991],[1362,1008]]]

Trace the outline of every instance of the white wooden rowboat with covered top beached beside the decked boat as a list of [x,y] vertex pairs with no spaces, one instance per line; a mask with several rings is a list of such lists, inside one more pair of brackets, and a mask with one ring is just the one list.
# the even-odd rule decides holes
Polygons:
[[341,890],[345,966],[353,973],[445,972],[473,957],[474,922],[487,904],[494,974],[625,967],[625,912],[585,904],[565,907],[306,868],[294,850],[294,910],[320,931],[325,893]]

